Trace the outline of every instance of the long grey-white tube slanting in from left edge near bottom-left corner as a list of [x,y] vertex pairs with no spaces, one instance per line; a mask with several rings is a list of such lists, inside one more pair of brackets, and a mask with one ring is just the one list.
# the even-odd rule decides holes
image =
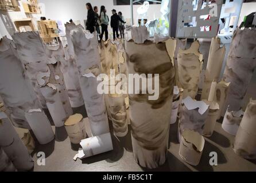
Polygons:
[[19,171],[28,171],[34,167],[34,161],[28,149],[22,143],[13,125],[5,113],[0,112],[0,147]]

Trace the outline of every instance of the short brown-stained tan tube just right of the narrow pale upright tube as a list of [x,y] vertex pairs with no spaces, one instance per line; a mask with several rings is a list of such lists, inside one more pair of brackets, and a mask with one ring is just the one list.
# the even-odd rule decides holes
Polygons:
[[219,108],[220,108],[218,111],[217,120],[219,120],[220,117],[222,116],[224,117],[226,113],[226,111],[223,112],[223,109],[227,100],[229,86],[230,86],[230,82],[227,83],[225,81],[220,81],[219,83],[217,83],[216,93],[214,97],[214,101],[216,101],[219,104]]

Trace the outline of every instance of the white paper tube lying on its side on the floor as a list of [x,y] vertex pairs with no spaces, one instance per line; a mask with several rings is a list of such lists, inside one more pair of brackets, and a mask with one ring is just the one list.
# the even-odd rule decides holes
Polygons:
[[80,145],[83,149],[79,149],[78,153],[73,158],[75,161],[77,160],[77,158],[83,159],[113,150],[110,133],[86,138],[80,142]]

